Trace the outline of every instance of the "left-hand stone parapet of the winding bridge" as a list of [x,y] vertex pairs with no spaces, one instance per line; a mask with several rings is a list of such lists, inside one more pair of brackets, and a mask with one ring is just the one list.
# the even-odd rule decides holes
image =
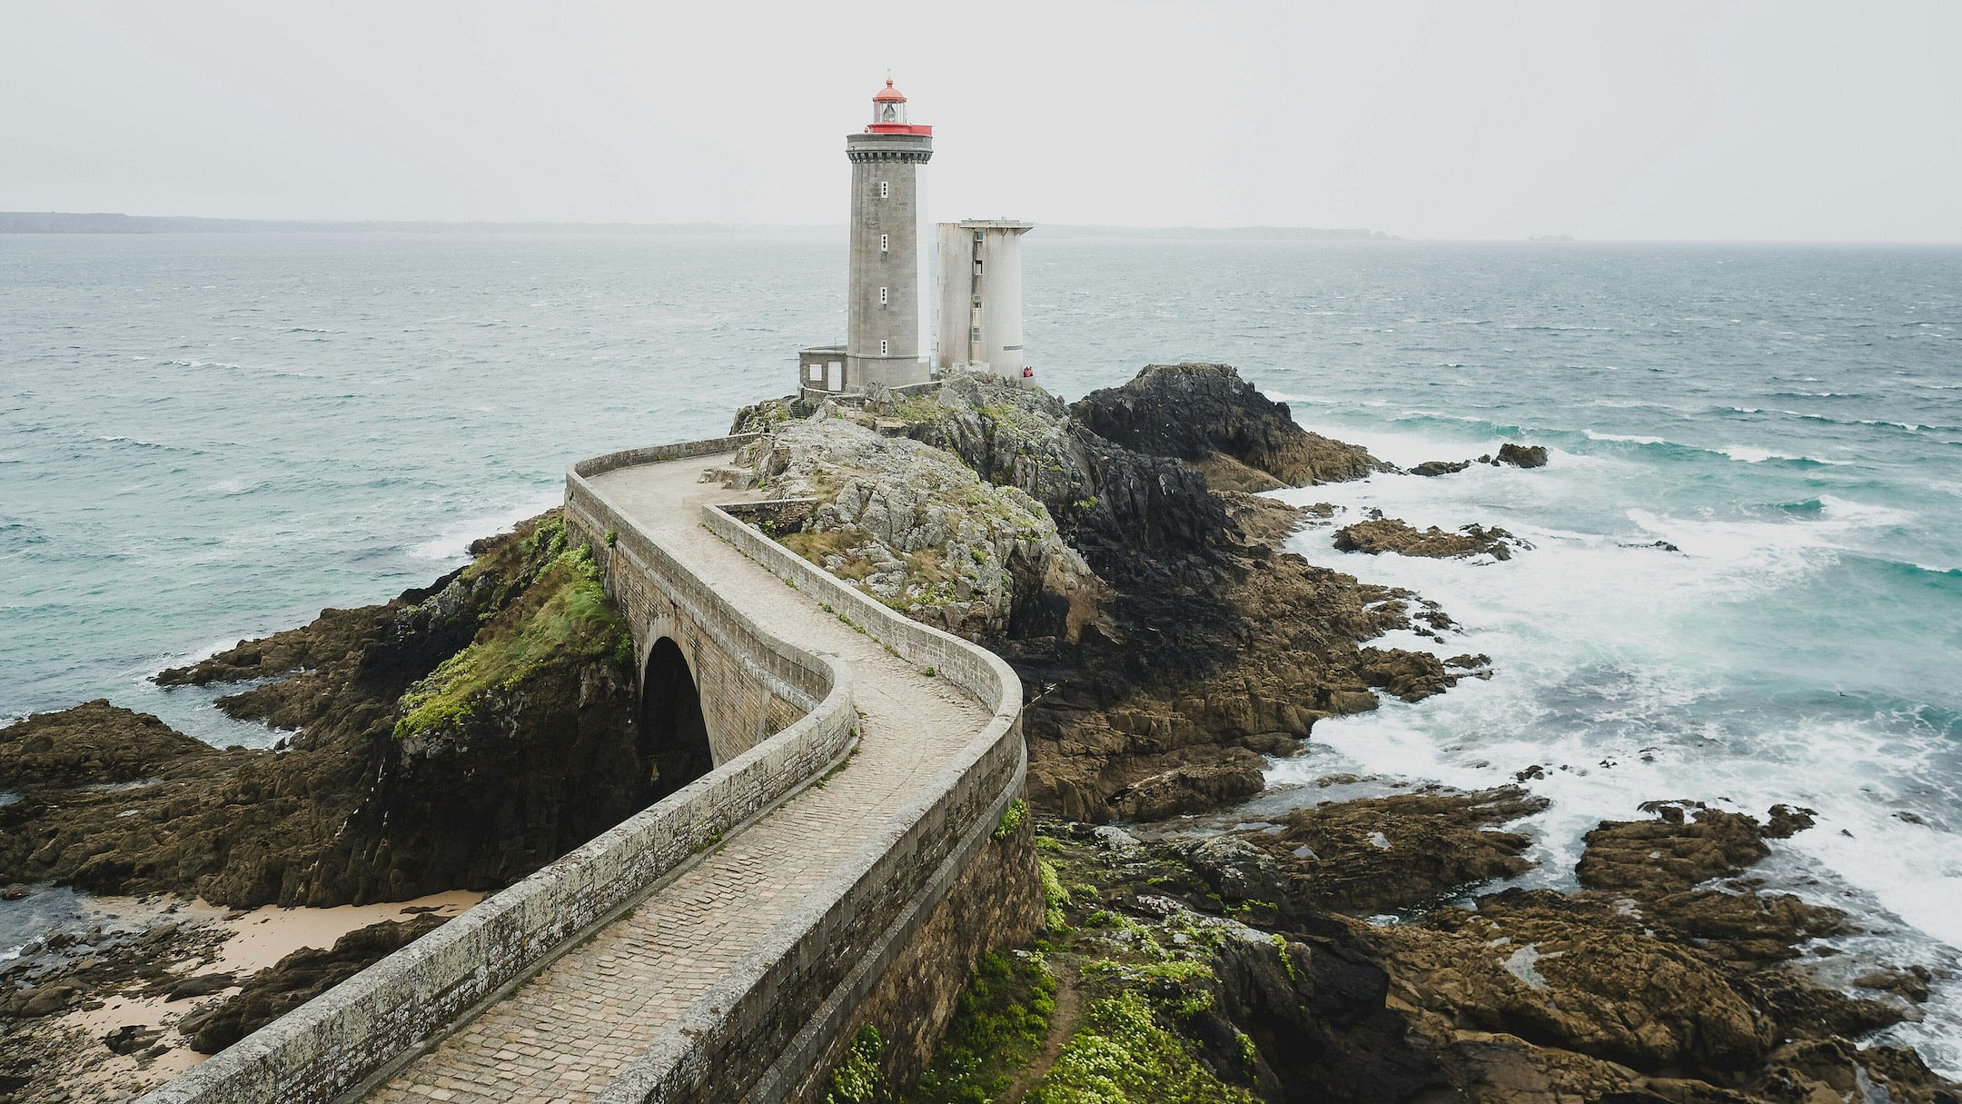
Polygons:
[[587,530],[618,532],[642,562],[659,564],[663,585],[712,609],[771,674],[810,711],[642,809],[532,876],[485,898],[463,915],[402,947],[326,994],[253,1031],[143,1104],[261,1104],[334,1100],[396,1067],[534,974],[587,931],[614,919],[679,872],[722,833],[740,827],[800,784],[818,778],[850,746],[857,715],[852,674],[763,633],[685,564],[667,556],[628,515],[593,491],[587,473],[632,464],[728,452],[748,438],[689,442],[594,458],[567,473],[567,513]]

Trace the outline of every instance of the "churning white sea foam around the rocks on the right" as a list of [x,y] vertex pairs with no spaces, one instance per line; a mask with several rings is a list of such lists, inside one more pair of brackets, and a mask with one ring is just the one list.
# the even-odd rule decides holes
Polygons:
[[[1648,800],[1701,800],[1760,817],[1776,803],[1805,805],[1819,825],[1776,851],[1825,886],[1817,892],[1838,894],[1834,904],[1862,925],[1905,931],[1905,923],[1962,947],[1962,821],[1948,813],[1962,750],[1936,731],[1834,705],[1831,670],[1778,670],[1783,660],[1760,658],[1752,640],[1768,631],[1758,611],[1809,595],[1842,556],[1915,515],[1846,495],[1817,495],[1819,509],[1797,517],[1601,509],[1626,497],[1662,501],[1640,495],[1650,473],[1626,460],[1562,456],[1534,473],[1473,466],[1444,479],[1377,475],[1281,491],[1287,501],[1377,507],[1419,526],[1501,524],[1534,548],[1481,566],[1342,554],[1328,526],[1299,534],[1291,546],[1311,562],[1409,587],[1464,627],[1444,642],[1399,635],[1395,646],[1483,652],[1495,676],[1415,705],[1385,701],[1373,713],[1320,721],[1313,752],[1279,760],[1269,780],[1358,772],[1487,788],[1536,764],[1544,778],[1526,786],[1552,805],[1530,821],[1528,856],[1538,866],[1521,882],[1552,886],[1574,884],[1587,829],[1640,817],[1636,805]],[[1581,515],[1621,517],[1626,528],[1548,524]],[[1656,538],[1681,552],[1652,548]],[[1764,690],[1742,690],[1768,678],[1793,680],[1791,693],[1811,682],[1821,705],[1780,707],[1760,699]],[[1848,955],[1872,963],[1889,947],[1897,953],[1901,939]],[[1942,982],[1929,1021],[1962,1023],[1962,982]],[[1903,1041],[1948,1069],[1962,1063],[1938,1033]]]

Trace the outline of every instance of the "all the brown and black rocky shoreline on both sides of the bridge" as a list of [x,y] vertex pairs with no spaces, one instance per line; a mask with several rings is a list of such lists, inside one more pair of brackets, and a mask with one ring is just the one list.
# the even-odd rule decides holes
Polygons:
[[[1929,978],[1821,982],[1807,966],[1846,917],[1752,874],[1803,809],[1660,801],[1589,833],[1574,892],[1507,888],[1540,809],[1519,788],[1324,778],[1369,794],[1218,813],[1317,721],[1493,676],[1485,656],[1377,644],[1456,627],[1285,552],[1291,532],[1338,526],[1362,570],[1530,548],[1260,497],[1395,469],[1234,369],[1152,365],[1071,405],[959,375],[863,407],[761,403],[734,428],[763,432],[742,477],[804,503],[779,540],[995,648],[1030,695],[1048,931],[983,966],[918,1086],[879,1084],[881,1043],[861,1039],[836,1100],[1958,1100],[1913,1051],[1860,1045],[1915,1016]],[[1548,454],[1411,475],[1477,462]],[[0,884],[233,910],[487,892],[644,807],[624,631],[591,558],[555,513],[471,552],[428,589],[159,676],[243,686],[220,707],[290,729],[275,750],[106,701],[0,729],[0,790],[22,794],[0,805]],[[396,913],[259,972],[218,968],[210,925],[22,959],[0,968],[0,1102],[116,1098],[77,1078],[110,1057],[153,1084],[434,923]],[[194,1012],[80,1027],[175,988]]]

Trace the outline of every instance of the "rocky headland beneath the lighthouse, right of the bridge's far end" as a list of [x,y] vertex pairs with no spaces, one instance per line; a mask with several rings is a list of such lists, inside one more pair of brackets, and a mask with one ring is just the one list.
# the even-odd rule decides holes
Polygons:
[[[1165,428],[1171,411],[1179,424]],[[1195,458],[1226,456],[1248,469],[1315,479],[1377,469],[1362,450],[1295,426],[1285,407],[1228,367],[1146,369],[1075,407],[993,375],[952,375],[928,395],[875,397],[863,411],[810,418],[793,403],[765,403],[738,414],[736,428],[767,434],[751,464],[771,479],[771,493],[785,495],[824,497],[840,485],[775,473],[797,466],[936,471],[944,458],[957,458],[983,485],[1036,503],[1109,587],[1097,593],[1097,617],[1069,619],[1059,587],[1036,591],[1044,595],[1038,615],[1010,603],[1007,635],[989,640],[1030,688],[1030,800],[1042,807],[1079,819],[1148,819],[1246,798],[1262,788],[1262,756],[1297,750],[1318,717],[1373,709],[1377,688],[1417,699],[1472,674],[1422,652],[1360,648],[1411,627],[1420,599],[1275,552],[1271,542],[1303,515],[1244,493],[1213,493]],[[914,442],[930,448],[918,452]],[[838,460],[797,460],[824,452]],[[995,509],[987,501],[954,503],[952,515],[985,515]],[[985,528],[985,519],[971,524]],[[1046,540],[1050,528],[1034,532]],[[804,550],[822,546],[826,534],[785,540]],[[881,570],[891,581],[903,578],[899,550],[865,566],[846,552],[814,558],[848,578]],[[1081,585],[1069,578],[1061,574],[1065,587]],[[1016,593],[1030,593],[1014,581]]]

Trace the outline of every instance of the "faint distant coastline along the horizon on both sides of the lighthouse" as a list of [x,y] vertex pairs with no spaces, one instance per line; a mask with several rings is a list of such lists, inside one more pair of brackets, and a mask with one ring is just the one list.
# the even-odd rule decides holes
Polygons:
[[[828,238],[844,226],[744,226],[730,222],[334,222],[318,218],[196,218],[63,210],[0,210],[0,234],[808,234]],[[1381,230],[1311,226],[1042,226],[1050,238],[1179,238],[1389,242]]]

